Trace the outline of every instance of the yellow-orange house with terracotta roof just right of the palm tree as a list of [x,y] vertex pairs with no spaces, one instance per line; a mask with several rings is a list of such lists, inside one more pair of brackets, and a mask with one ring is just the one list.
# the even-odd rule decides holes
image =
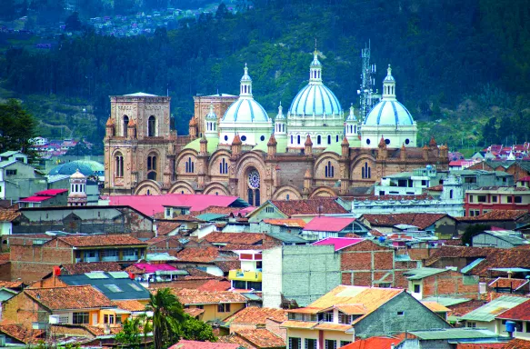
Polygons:
[[230,291],[198,291],[182,289],[175,292],[186,309],[199,309],[198,319],[204,322],[220,322],[246,306],[242,294]]

